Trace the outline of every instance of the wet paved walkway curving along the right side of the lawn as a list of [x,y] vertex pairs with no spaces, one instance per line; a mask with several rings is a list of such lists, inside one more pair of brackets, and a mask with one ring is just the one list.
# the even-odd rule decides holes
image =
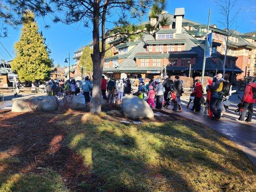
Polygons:
[[[232,105],[229,107],[230,110],[224,112],[221,120],[219,121],[209,119],[202,111],[200,113],[196,113],[190,111],[189,108],[186,108],[189,101],[189,96],[182,96],[182,111],[174,112],[171,109],[171,105],[167,109],[164,108],[163,110],[165,112],[175,113],[183,117],[196,120],[211,127],[217,132],[222,133],[237,144],[249,157],[253,164],[256,165],[256,120],[252,120],[252,123],[240,123],[235,120],[239,118],[239,115],[233,112],[237,108],[236,105],[239,103],[237,95],[238,94],[234,94],[230,97],[229,100],[232,102]],[[192,108],[192,106],[193,104],[190,106],[190,108]],[[255,108],[254,114],[256,114]]]

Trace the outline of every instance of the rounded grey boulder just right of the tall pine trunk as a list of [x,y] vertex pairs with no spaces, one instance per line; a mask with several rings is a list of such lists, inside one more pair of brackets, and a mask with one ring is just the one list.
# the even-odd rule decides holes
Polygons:
[[154,112],[146,101],[137,96],[124,96],[122,98],[123,114],[132,119],[154,117]]

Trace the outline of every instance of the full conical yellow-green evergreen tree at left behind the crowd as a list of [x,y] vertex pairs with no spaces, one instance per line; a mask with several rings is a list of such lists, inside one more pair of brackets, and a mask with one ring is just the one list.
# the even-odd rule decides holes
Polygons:
[[38,32],[33,12],[24,13],[20,41],[15,43],[14,49],[16,57],[11,64],[12,70],[17,72],[21,82],[34,82],[49,77],[52,60],[49,59],[45,39]]

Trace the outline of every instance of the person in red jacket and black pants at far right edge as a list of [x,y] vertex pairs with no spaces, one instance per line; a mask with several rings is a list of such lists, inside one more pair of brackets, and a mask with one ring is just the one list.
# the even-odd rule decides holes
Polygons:
[[253,92],[253,89],[256,89],[256,80],[253,77],[249,78],[249,80],[250,80],[250,83],[246,84],[245,90],[244,90],[244,96],[242,98],[244,111],[242,112],[239,119],[236,119],[236,120],[244,122],[245,115],[248,111],[248,116],[245,122],[251,123],[252,117],[253,117],[253,104],[256,101],[256,97],[254,96],[254,92]]

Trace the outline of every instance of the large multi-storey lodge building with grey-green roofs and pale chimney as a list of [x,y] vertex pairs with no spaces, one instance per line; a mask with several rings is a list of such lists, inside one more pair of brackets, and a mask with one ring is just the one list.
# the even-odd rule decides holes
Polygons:
[[[205,37],[196,38],[199,28],[206,34],[207,25],[184,19],[184,8],[175,9],[174,15],[162,12],[161,17],[168,22],[161,26],[155,18],[143,24],[157,24],[158,30],[148,31],[132,42],[120,43],[120,39],[110,41],[112,56],[105,59],[103,72],[119,77],[120,73],[130,76],[160,74],[167,70],[169,74],[192,74],[202,72]],[[213,32],[212,57],[206,60],[206,74],[223,72],[225,54],[225,30],[216,25],[209,27]],[[228,78],[233,82],[245,75],[255,73],[256,38],[252,33],[241,34],[231,31],[229,36],[228,57],[225,64]]]

